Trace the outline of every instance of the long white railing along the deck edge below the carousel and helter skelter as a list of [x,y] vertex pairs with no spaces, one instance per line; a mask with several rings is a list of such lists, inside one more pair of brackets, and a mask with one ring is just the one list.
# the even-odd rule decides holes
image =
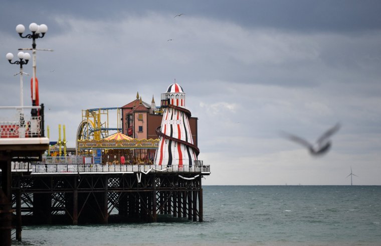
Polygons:
[[156,173],[208,173],[209,165],[192,166],[164,166],[164,165],[102,165],[102,164],[30,164],[30,163],[12,163],[12,170],[17,172],[28,171],[32,174],[43,173],[138,173],[138,172],[156,172]]

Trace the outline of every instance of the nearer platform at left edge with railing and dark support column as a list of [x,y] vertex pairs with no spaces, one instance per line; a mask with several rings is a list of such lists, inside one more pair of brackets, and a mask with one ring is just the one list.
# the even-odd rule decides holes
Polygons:
[[[39,115],[25,109],[39,110]],[[21,240],[22,222],[22,191],[14,181],[31,172],[30,162],[41,160],[49,139],[44,136],[44,104],[1,106],[0,115],[0,244],[11,245],[12,229]],[[15,168],[14,162],[23,165]]]

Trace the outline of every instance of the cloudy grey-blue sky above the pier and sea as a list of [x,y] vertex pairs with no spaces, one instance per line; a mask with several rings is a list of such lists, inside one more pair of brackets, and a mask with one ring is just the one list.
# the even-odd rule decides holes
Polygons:
[[[31,48],[16,26],[46,24],[36,41],[40,102],[51,141],[74,147],[82,109],[143,101],[175,81],[198,117],[204,185],[381,185],[379,1],[2,1],[0,105],[20,104]],[[175,17],[177,14],[183,14]],[[169,41],[168,41],[169,40]],[[24,66],[32,75],[32,64]],[[25,77],[24,104],[30,105]],[[27,83],[28,82],[28,83]],[[111,122],[116,125],[115,121]],[[314,143],[339,122],[323,156]]]

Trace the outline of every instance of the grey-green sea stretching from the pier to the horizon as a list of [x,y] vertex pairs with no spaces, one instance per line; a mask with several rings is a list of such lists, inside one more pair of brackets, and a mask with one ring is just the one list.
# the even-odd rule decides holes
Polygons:
[[381,245],[381,186],[203,186],[204,221],[23,226],[14,245]]

